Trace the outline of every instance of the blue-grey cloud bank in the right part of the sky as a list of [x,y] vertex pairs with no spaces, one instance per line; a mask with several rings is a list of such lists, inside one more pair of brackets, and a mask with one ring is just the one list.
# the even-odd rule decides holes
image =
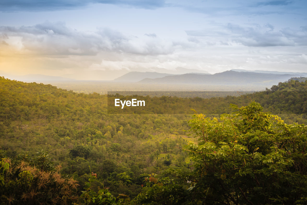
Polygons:
[[[243,24],[244,25],[244,24]],[[266,23],[264,25],[248,24],[238,25],[227,23],[215,24],[205,30],[186,30],[188,39],[197,39],[198,44],[229,45],[233,43],[243,46],[271,47],[271,46],[305,46],[307,45],[307,26],[300,29],[282,28],[275,30],[275,26]],[[194,42],[196,42],[194,40]]]

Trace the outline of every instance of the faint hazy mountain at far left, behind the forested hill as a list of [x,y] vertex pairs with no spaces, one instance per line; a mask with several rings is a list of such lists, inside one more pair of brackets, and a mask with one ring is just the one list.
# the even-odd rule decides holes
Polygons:
[[27,74],[27,75],[6,75],[5,78],[11,80],[18,80],[22,82],[63,82],[63,81],[75,81],[72,78],[63,78],[60,76],[51,76],[51,75],[41,75],[41,74]]

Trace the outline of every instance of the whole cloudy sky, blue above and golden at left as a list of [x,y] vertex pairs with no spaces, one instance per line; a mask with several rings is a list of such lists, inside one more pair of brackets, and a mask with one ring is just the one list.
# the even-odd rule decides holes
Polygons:
[[306,0],[1,0],[0,74],[307,72],[306,10]]

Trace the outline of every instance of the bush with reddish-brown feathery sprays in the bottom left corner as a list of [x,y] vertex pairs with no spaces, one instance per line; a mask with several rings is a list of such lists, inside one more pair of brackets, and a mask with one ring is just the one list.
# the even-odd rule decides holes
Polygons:
[[[45,156],[37,158],[41,159]],[[50,167],[47,171],[39,167],[30,165],[24,160],[13,163],[10,158],[2,158],[0,161],[0,203],[72,204],[77,202],[78,182],[73,177],[63,178],[60,175],[60,165]]]

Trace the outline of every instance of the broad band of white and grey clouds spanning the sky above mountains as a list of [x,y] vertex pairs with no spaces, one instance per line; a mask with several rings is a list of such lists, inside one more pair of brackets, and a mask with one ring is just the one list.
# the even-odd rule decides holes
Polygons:
[[[12,61],[24,66],[21,59],[24,58],[29,68],[36,66],[35,72],[65,73],[76,79],[84,79],[91,72],[101,75],[92,74],[87,79],[113,79],[125,72],[155,68],[186,67],[212,74],[233,68],[297,71],[306,68],[305,27],[276,31],[271,24],[210,26],[169,38],[153,32],[135,36],[109,28],[78,31],[64,22],[0,26],[0,64],[2,61],[5,62],[2,67],[9,65],[6,53],[10,51],[22,54]],[[30,65],[32,62],[37,65]]]

